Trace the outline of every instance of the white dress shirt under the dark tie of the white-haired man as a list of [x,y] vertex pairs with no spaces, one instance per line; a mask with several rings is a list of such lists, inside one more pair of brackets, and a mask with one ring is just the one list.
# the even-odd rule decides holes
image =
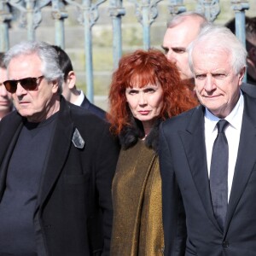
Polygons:
[[[230,123],[225,130],[225,135],[229,143],[229,170],[228,170],[228,198],[229,199],[230,199],[230,191],[231,191],[234,172],[235,172],[238,146],[240,141],[243,108],[244,108],[244,101],[241,93],[235,108],[233,108],[231,113],[225,118]],[[205,140],[206,140],[206,148],[207,148],[207,168],[208,168],[209,177],[210,177],[210,166],[211,166],[211,159],[212,159],[212,146],[218,134],[218,128],[217,128],[218,120],[219,118],[213,115],[206,108]]]

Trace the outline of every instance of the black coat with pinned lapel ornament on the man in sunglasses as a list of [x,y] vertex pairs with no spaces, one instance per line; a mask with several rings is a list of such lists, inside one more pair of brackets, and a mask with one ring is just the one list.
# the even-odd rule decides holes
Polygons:
[[[0,124],[0,200],[15,142],[22,127],[14,111]],[[72,142],[77,129],[84,148]],[[111,183],[119,146],[109,135],[108,124],[61,97],[49,159],[38,193],[38,217],[46,253],[38,255],[109,255],[112,227]],[[42,243],[43,244],[43,243]]]

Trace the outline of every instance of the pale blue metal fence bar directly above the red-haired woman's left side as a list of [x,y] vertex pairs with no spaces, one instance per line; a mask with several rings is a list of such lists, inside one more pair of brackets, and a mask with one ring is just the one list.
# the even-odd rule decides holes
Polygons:
[[122,15],[125,15],[125,9],[122,8],[122,0],[110,0],[109,15],[112,18],[113,26],[113,68],[119,65],[119,59],[122,56]]

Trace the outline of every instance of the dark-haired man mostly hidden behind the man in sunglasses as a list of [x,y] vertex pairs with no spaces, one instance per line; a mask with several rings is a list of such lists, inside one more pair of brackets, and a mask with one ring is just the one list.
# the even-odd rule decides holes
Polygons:
[[67,53],[59,46],[53,45],[53,48],[57,51],[60,67],[64,73],[62,96],[65,97],[67,102],[88,109],[91,113],[95,113],[101,119],[106,119],[106,112],[102,108],[90,103],[84,95],[84,92],[77,89],[76,74],[73,71],[72,62]]

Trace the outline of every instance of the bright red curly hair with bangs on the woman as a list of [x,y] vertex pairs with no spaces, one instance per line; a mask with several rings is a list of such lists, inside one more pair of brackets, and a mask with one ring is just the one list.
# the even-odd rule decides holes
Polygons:
[[168,61],[159,49],[137,49],[120,59],[110,84],[107,118],[110,130],[116,135],[126,125],[131,125],[131,110],[126,102],[125,90],[132,87],[133,82],[140,84],[140,87],[160,83],[163,89],[160,119],[170,118],[198,104],[188,86],[181,81],[175,64]]

